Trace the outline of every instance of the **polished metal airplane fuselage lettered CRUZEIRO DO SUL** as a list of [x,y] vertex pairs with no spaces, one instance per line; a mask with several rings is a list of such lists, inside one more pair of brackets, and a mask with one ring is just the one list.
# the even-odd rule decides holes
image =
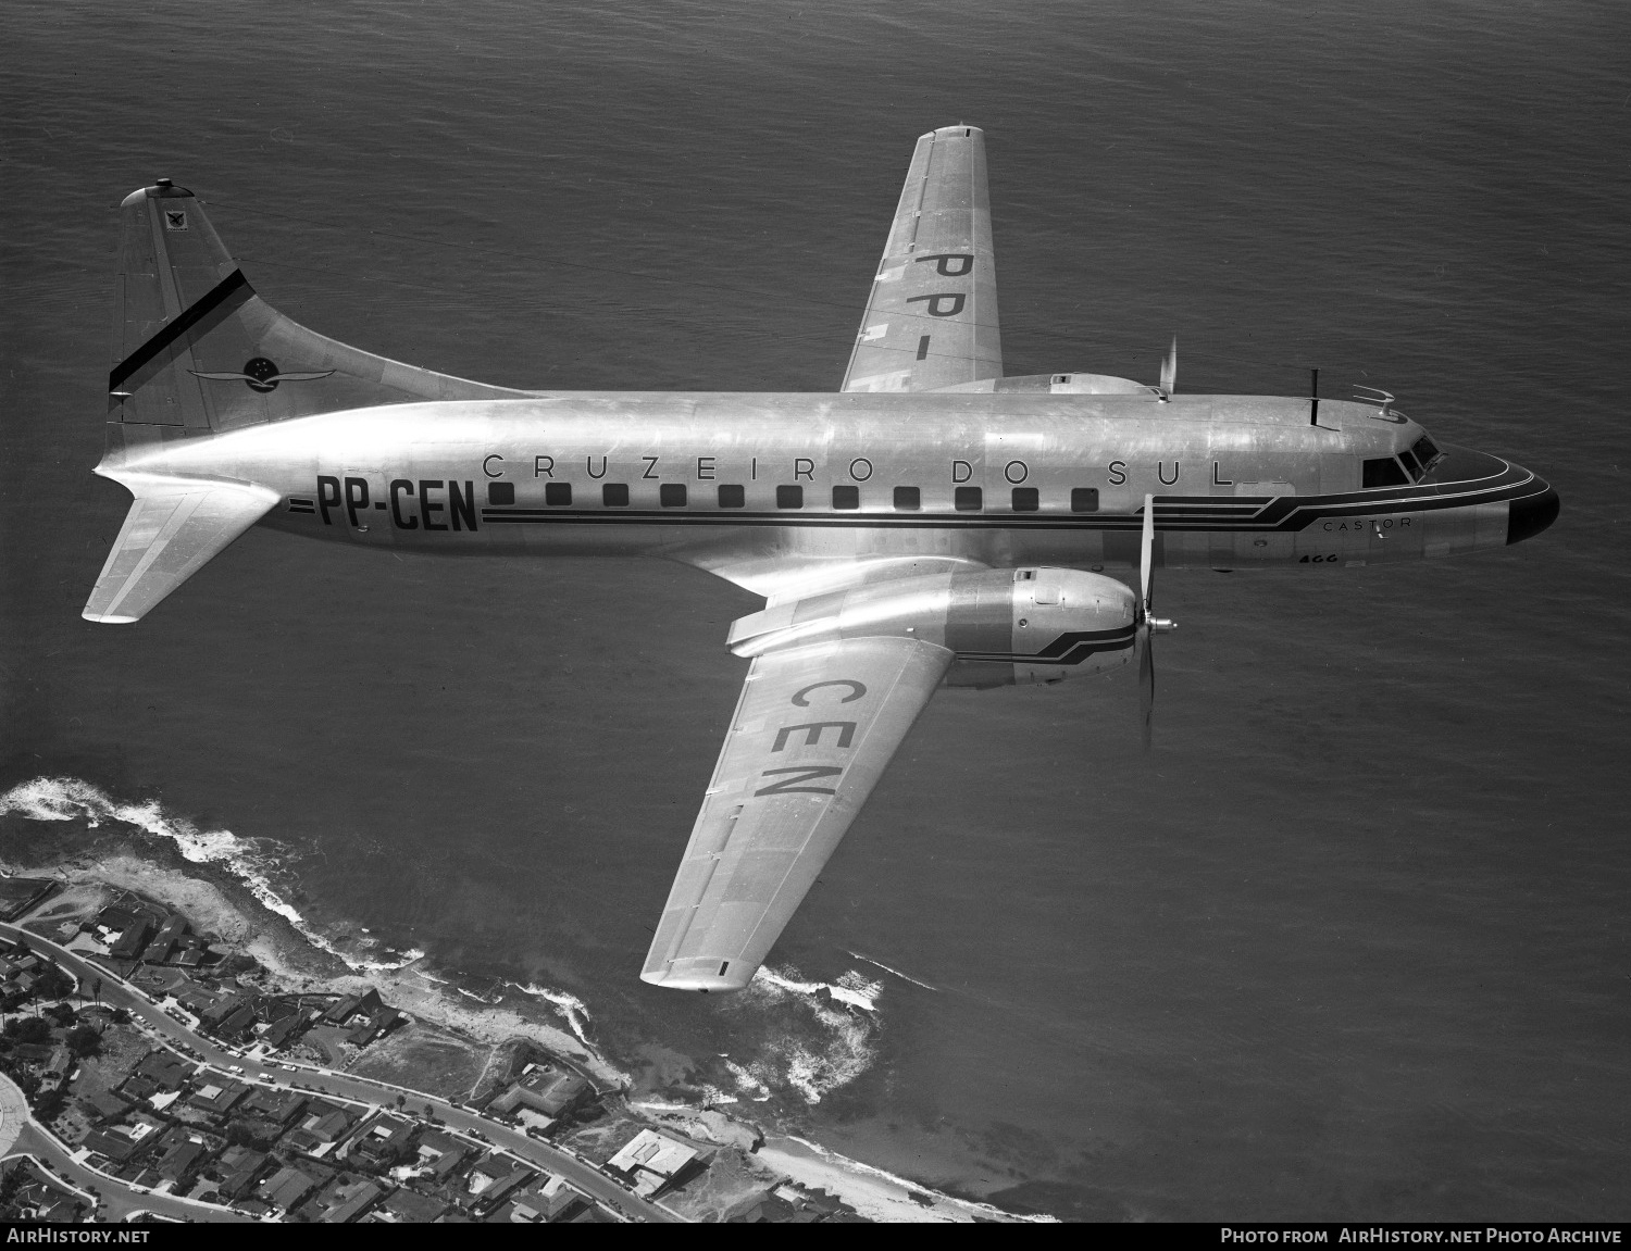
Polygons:
[[[1179,395],[538,393],[390,404],[114,449],[99,471],[230,478],[263,525],[447,555],[638,555],[1080,569],[1360,564],[1501,546],[1548,491],[1494,457],[1362,489],[1399,413]],[[721,488],[731,488],[721,491]],[[975,494],[977,489],[977,494]],[[750,574],[734,581],[755,586]]]

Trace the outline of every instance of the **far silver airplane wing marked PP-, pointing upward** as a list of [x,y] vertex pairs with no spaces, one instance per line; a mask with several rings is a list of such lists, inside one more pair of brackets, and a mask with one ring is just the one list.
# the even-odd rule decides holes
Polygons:
[[843,375],[845,391],[933,391],[1003,375],[985,132],[918,139]]

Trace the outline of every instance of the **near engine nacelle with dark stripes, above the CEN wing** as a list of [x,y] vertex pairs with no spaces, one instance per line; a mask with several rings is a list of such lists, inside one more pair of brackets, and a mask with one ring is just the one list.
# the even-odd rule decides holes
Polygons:
[[912,638],[953,652],[956,687],[1059,682],[1127,664],[1135,605],[1114,577],[1080,569],[926,574],[752,613],[731,626],[731,651]]

